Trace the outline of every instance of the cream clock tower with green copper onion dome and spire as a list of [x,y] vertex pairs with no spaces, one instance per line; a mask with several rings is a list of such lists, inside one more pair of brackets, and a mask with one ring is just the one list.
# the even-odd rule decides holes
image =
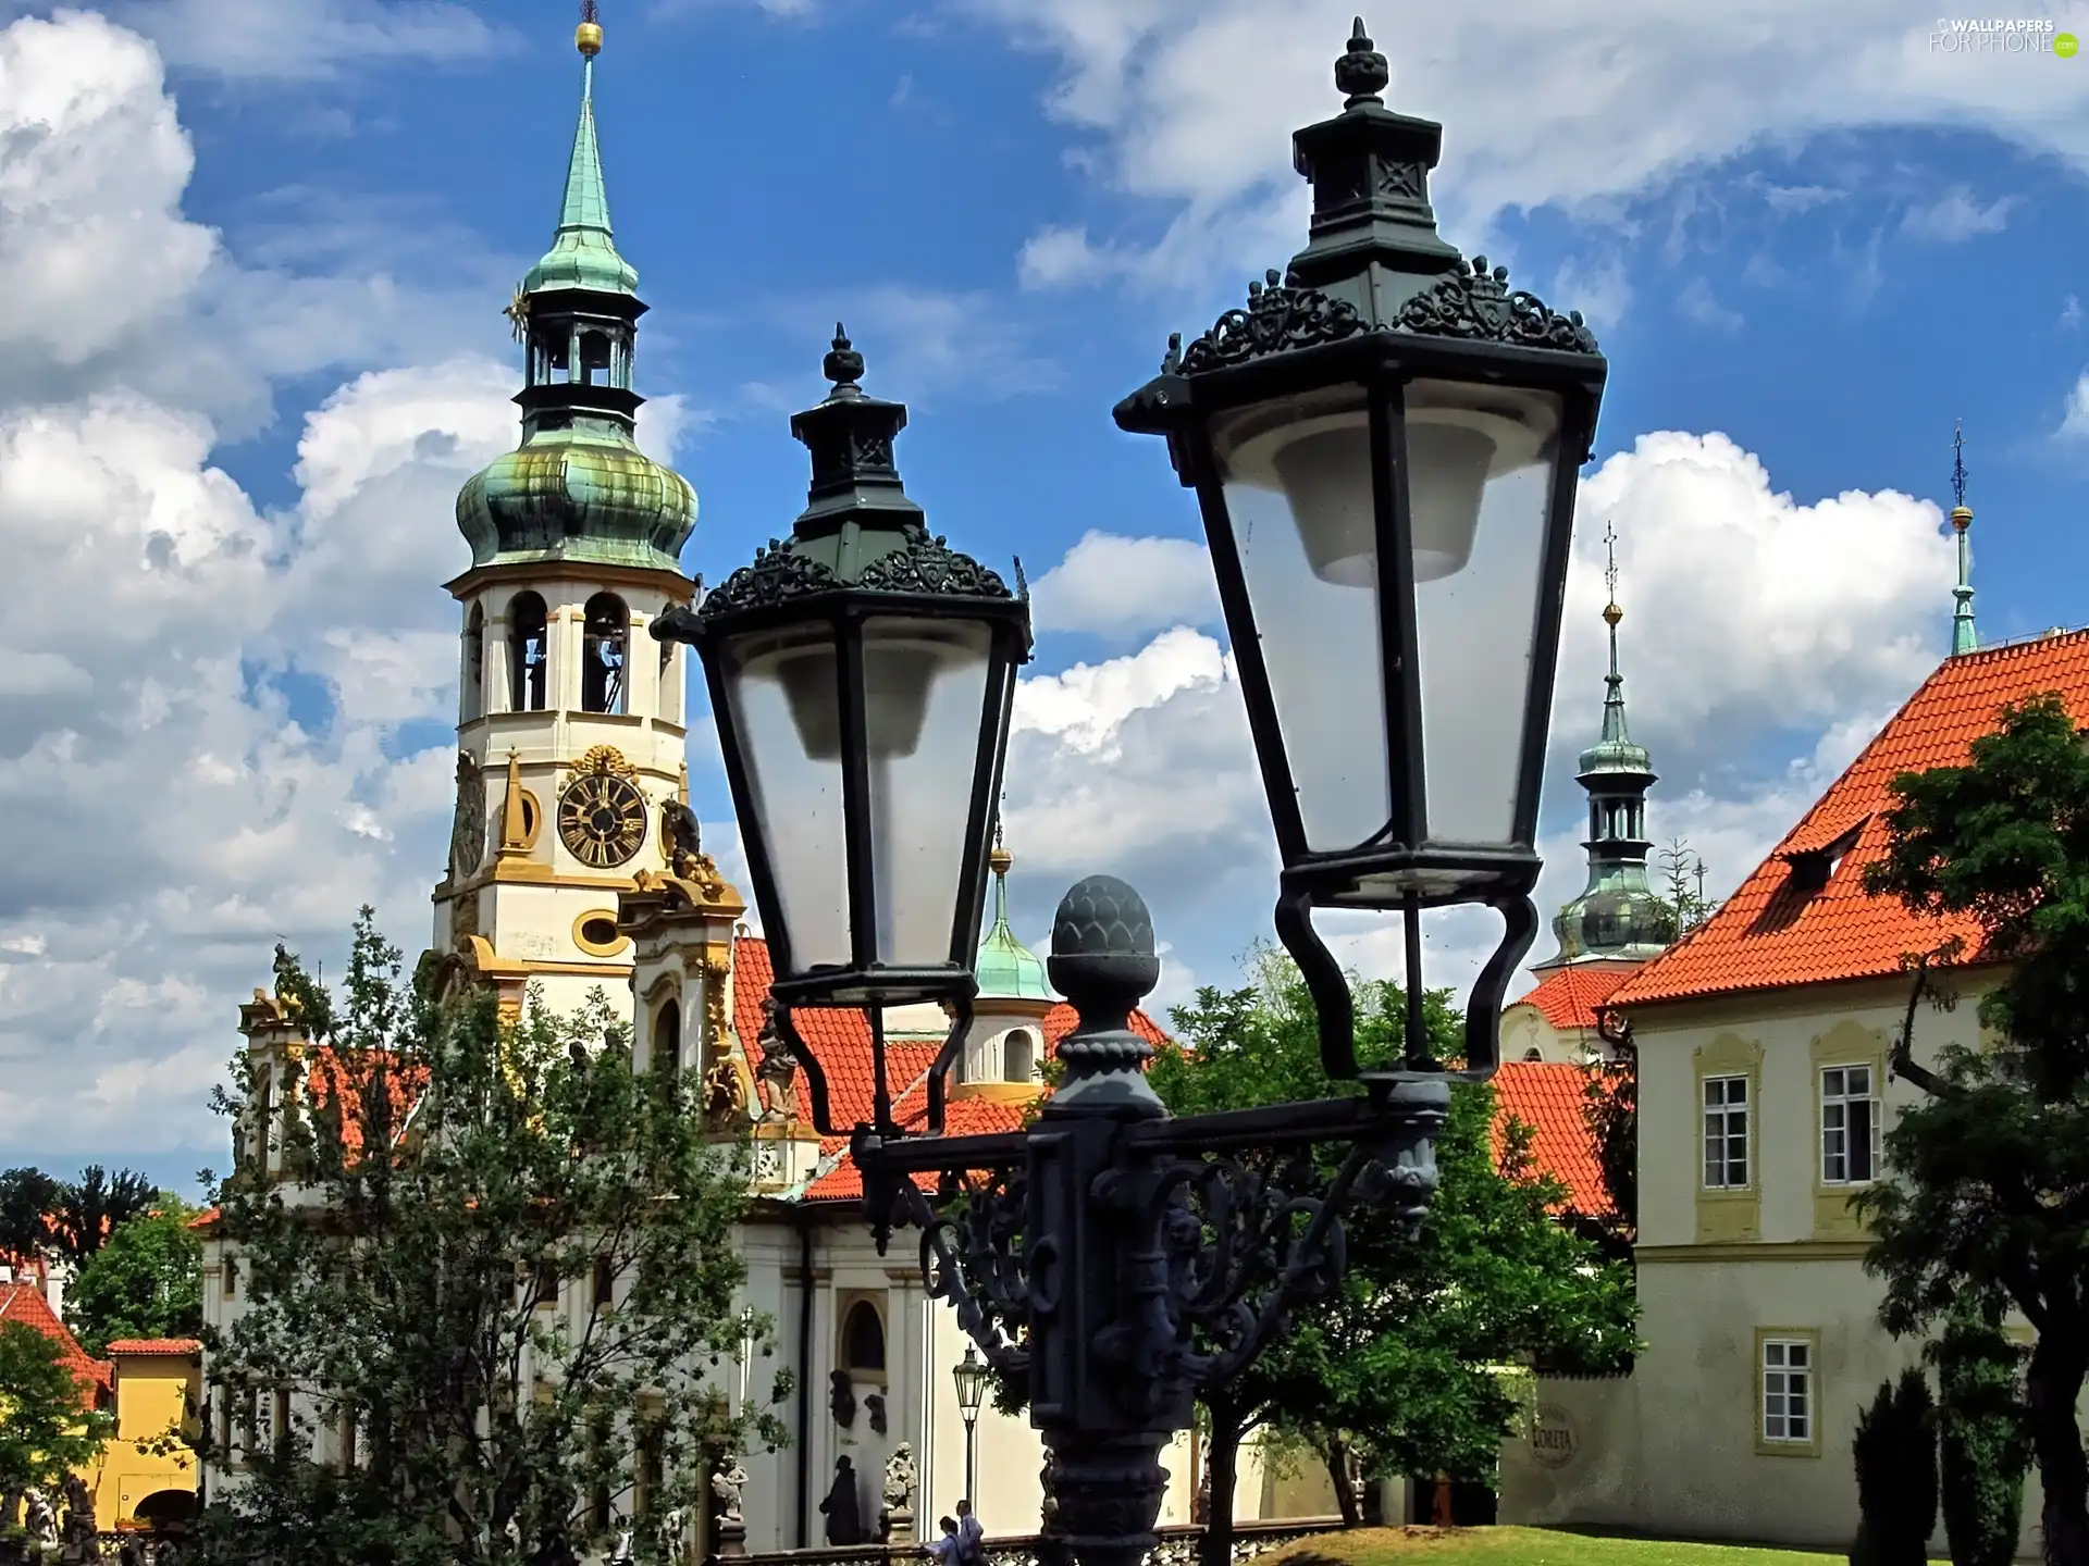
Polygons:
[[687,649],[646,626],[696,591],[681,549],[696,491],[635,441],[637,271],[616,253],[595,144],[593,8],[574,33],[581,119],[558,236],[508,305],[524,349],[522,445],[457,495],[457,814],[435,950],[568,1011],[631,979],[618,894],[668,864],[687,804]]

